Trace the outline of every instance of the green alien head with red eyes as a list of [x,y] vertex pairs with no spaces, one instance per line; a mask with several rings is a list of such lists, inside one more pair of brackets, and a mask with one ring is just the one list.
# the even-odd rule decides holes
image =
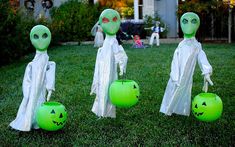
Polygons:
[[99,23],[106,35],[113,36],[120,28],[121,18],[117,11],[105,9],[100,14]]

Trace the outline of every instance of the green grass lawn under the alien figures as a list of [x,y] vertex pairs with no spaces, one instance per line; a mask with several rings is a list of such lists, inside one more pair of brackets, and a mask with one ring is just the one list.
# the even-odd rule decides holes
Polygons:
[[[30,54],[0,68],[0,146],[4,145],[200,145],[235,144],[235,45],[203,44],[213,67],[211,77],[216,93],[223,101],[222,117],[211,123],[194,118],[159,113],[169,79],[172,55],[177,44],[159,48],[131,49],[124,45],[128,59],[127,78],[141,90],[139,103],[129,109],[117,109],[117,118],[97,117],[91,112],[95,96],[90,96],[96,49],[92,45],[50,48],[50,60],[57,64],[56,91],[51,101],[59,101],[68,111],[66,126],[57,132],[32,130],[18,132],[8,125],[15,119],[22,100],[22,80]],[[203,77],[199,66],[194,72],[192,97],[201,92]]]

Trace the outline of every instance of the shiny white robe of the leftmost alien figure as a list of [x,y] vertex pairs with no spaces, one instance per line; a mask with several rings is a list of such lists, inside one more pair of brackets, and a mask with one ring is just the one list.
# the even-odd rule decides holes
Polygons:
[[20,131],[38,129],[35,119],[37,108],[46,100],[46,90],[55,90],[55,62],[48,61],[45,52],[38,52],[26,69],[23,79],[23,100],[16,119],[10,126]]

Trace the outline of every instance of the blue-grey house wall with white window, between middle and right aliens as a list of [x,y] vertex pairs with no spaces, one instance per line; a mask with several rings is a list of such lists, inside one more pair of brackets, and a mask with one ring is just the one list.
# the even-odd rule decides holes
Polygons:
[[[94,0],[94,3],[97,3],[98,1],[99,0]],[[125,0],[116,0],[116,2],[121,3],[125,2]],[[134,16],[131,21],[143,22],[144,16],[149,15],[154,17],[158,14],[161,20],[167,24],[167,37],[178,37],[178,19],[176,16],[178,0],[132,0],[132,3]]]

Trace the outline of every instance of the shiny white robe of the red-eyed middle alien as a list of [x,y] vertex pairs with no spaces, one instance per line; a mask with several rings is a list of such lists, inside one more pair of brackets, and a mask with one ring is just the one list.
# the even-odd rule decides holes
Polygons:
[[108,90],[111,83],[118,79],[117,64],[122,75],[126,71],[127,55],[122,46],[118,45],[115,36],[107,36],[103,47],[97,53],[91,88],[91,94],[96,94],[92,112],[99,117],[116,117],[115,106],[109,100]]

